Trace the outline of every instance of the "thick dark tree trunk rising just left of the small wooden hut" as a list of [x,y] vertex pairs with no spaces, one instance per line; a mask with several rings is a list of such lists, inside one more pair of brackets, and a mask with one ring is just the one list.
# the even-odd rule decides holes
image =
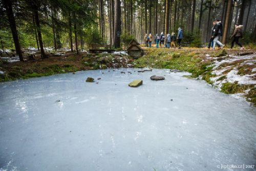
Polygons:
[[121,2],[115,0],[115,48],[120,48],[120,35],[121,35]]

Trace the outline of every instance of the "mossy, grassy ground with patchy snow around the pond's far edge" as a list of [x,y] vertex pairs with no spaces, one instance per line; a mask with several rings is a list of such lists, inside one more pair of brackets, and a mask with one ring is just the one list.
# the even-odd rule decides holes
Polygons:
[[[133,59],[125,52],[78,55],[66,50],[49,51],[42,60],[39,52],[24,50],[25,61],[0,57],[0,81],[48,76],[80,70],[107,68],[158,68],[170,72],[187,71],[193,79],[203,79],[212,87],[256,104],[256,50],[208,50],[203,48],[144,48],[145,55]],[[28,55],[34,54],[34,59]],[[11,55],[11,53],[10,53]]]

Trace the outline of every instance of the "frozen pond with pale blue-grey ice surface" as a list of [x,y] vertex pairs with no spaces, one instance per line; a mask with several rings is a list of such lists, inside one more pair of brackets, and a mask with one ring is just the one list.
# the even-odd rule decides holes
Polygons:
[[[137,71],[0,83],[0,170],[209,171],[256,164],[256,108],[182,77],[188,73]],[[99,83],[85,82],[89,76]],[[143,85],[128,87],[134,79]]]

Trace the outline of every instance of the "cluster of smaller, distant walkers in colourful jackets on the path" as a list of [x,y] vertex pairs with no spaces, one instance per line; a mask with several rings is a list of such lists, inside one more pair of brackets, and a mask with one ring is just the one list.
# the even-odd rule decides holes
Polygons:
[[[156,34],[156,38],[155,38],[156,48],[159,48],[159,42],[160,42],[160,48],[162,47],[162,45],[166,48],[172,48],[172,47],[175,48],[176,40],[179,45],[179,48],[181,48],[182,38],[183,38],[183,30],[181,28],[178,29],[178,36],[176,36],[174,32],[172,32],[172,35],[168,33],[166,34],[166,36],[163,34],[163,32],[160,35]],[[166,39],[166,44],[164,44],[165,39]],[[152,34],[151,33],[149,35],[145,34],[144,41],[145,41],[145,46],[151,48],[152,41],[153,41]]]

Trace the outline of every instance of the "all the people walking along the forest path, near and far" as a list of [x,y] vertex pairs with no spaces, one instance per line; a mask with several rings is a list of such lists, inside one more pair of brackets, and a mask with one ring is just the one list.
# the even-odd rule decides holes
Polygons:
[[[208,43],[208,49],[212,47],[212,49],[215,50],[216,46],[223,49],[225,45],[223,45],[222,42],[220,41],[220,37],[222,36],[222,32],[223,32],[222,22],[216,19],[212,24],[213,26],[211,28],[211,35]],[[236,42],[236,44],[241,47],[240,49],[244,49],[244,47],[239,42],[239,38],[240,37],[242,38],[243,26],[236,24],[234,25],[234,27],[235,27],[234,32],[230,37],[230,39],[232,39],[230,49],[233,48],[234,42]],[[181,28],[178,28],[177,36],[175,35],[174,32],[172,32],[172,35],[168,33],[166,34],[166,36],[163,34],[163,32],[161,32],[160,35],[156,34],[156,38],[155,38],[156,48],[159,48],[159,42],[160,42],[160,48],[162,47],[162,45],[165,48],[172,48],[172,47],[176,48],[176,41],[177,41],[178,48],[180,49],[182,38],[183,38],[183,30]],[[152,34],[151,33],[149,35],[145,34],[144,41],[145,41],[146,47],[152,47],[152,41],[153,41]]]

